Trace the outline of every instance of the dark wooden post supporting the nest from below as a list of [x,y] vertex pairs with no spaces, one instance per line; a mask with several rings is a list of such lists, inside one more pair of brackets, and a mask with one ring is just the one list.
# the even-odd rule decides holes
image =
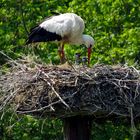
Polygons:
[[92,119],[89,116],[74,116],[63,119],[64,140],[90,140]]

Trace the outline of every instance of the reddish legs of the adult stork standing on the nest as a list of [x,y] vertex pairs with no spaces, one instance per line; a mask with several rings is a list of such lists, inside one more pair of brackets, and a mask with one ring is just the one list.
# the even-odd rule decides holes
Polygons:
[[64,44],[61,43],[58,48],[58,54],[60,57],[60,63],[63,64],[65,62],[65,53],[64,53]]

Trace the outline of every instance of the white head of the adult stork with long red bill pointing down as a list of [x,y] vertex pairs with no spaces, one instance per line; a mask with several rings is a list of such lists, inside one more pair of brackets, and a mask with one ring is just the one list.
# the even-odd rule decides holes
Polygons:
[[90,35],[83,35],[83,44],[87,47],[88,64],[90,64],[91,48],[94,45],[94,39]]

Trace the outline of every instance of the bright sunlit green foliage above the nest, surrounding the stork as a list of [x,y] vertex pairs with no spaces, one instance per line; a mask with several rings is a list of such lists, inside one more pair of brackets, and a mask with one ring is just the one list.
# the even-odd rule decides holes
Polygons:
[[[0,5],[0,50],[13,58],[30,52],[25,46],[30,28],[54,13],[74,12],[84,19],[85,33],[95,39],[92,64],[139,64],[138,0],[2,0]],[[76,51],[85,55],[81,47],[67,45],[65,50],[70,60]],[[59,62],[56,44],[41,43],[34,52],[46,63]]]

